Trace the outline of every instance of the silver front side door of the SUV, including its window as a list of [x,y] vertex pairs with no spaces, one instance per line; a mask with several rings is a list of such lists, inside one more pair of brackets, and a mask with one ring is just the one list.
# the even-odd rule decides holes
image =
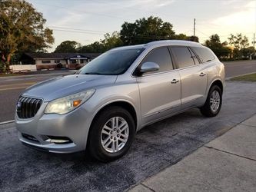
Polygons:
[[181,81],[173,70],[168,47],[155,48],[141,61],[155,62],[159,70],[137,77],[141,96],[141,117],[144,122],[161,118],[181,105]]

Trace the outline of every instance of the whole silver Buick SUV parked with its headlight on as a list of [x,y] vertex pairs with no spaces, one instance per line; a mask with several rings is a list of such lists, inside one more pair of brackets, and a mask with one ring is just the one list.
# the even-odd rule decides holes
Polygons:
[[189,108],[221,109],[224,65],[191,41],[114,48],[76,74],[43,81],[18,99],[19,140],[54,153],[84,151],[100,161],[124,155],[142,127]]

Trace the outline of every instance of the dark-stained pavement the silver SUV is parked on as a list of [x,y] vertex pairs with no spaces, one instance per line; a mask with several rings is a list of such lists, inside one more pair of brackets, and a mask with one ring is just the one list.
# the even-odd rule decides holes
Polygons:
[[198,109],[139,131],[125,157],[108,164],[85,154],[48,154],[23,146],[14,124],[0,125],[1,191],[123,191],[177,163],[256,113],[256,84],[227,82],[220,114]]

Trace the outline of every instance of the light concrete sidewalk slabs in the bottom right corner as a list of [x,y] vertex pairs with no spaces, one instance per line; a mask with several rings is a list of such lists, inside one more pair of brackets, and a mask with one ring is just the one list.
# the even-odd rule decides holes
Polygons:
[[256,191],[256,114],[129,191]]

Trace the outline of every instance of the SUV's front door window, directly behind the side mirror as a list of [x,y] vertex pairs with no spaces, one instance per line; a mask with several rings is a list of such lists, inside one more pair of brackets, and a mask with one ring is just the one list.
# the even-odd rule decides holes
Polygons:
[[156,48],[152,50],[142,61],[145,62],[155,62],[159,65],[159,70],[155,72],[168,71],[173,69],[171,63],[171,55],[168,48]]

